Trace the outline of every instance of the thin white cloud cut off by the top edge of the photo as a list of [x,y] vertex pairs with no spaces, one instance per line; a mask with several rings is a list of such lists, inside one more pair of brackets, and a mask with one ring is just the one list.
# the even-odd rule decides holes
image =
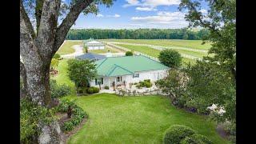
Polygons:
[[126,0],[126,4],[123,5],[124,7],[127,6],[172,6],[172,5],[179,5],[181,0]]

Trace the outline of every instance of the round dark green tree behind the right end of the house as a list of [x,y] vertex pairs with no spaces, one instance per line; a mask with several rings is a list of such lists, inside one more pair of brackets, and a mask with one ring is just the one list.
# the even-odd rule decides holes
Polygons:
[[158,56],[158,59],[162,64],[169,67],[179,67],[182,65],[182,55],[176,50],[162,50]]

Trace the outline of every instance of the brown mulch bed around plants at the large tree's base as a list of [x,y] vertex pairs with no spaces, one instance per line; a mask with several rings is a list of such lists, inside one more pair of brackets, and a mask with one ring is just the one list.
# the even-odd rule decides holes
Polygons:
[[[67,117],[66,113],[57,113],[56,114],[58,116],[60,125],[62,126],[62,124],[64,122],[69,121],[71,118]],[[82,122],[79,123],[78,126],[75,126],[73,130],[67,131],[67,132],[63,132],[61,134],[61,138],[62,138],[62,142],[64,142],[65,144],[67,143],[68,138],[70,138],[73,134],[76,134],[78,132],[78,130],[80,130],[82,128],[82,126],[84,126],[84,124],[86,123],[87,118],[83,118]]]

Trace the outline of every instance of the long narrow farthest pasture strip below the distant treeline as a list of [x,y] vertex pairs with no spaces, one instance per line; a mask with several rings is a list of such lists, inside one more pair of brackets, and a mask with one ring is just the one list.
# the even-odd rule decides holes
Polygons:
[[202,40],[182,40],[182,39],[102,39],[106,42],[130,42],[138,44],[148,44],[156,46],[177,46],[198,50],[209,50],[210,42],[202,45]]

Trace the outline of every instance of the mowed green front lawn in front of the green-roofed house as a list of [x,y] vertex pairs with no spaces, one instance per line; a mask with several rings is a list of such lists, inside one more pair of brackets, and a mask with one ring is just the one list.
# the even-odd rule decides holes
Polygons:
[[162,143],[165,130],[174,125],[190,126],[214,143],[228,143],[205,116],[178,110],[163,96],[118,97],[115,94],[69,96],[89,114],[82,129],[69,144]]

